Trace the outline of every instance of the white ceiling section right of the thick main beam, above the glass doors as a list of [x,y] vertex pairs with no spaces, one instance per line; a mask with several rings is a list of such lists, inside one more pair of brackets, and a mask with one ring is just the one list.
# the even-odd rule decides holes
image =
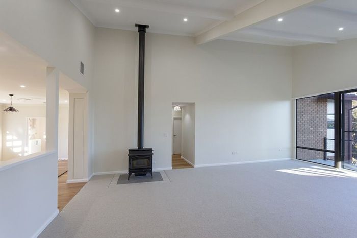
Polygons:
[[[278,22],[278,18],[283,18]],[[343,27],[343,31],[338,29]],[[357,37],[357,1],[327,0],[228,34],[222,39],[276,45],[337,43]]]

